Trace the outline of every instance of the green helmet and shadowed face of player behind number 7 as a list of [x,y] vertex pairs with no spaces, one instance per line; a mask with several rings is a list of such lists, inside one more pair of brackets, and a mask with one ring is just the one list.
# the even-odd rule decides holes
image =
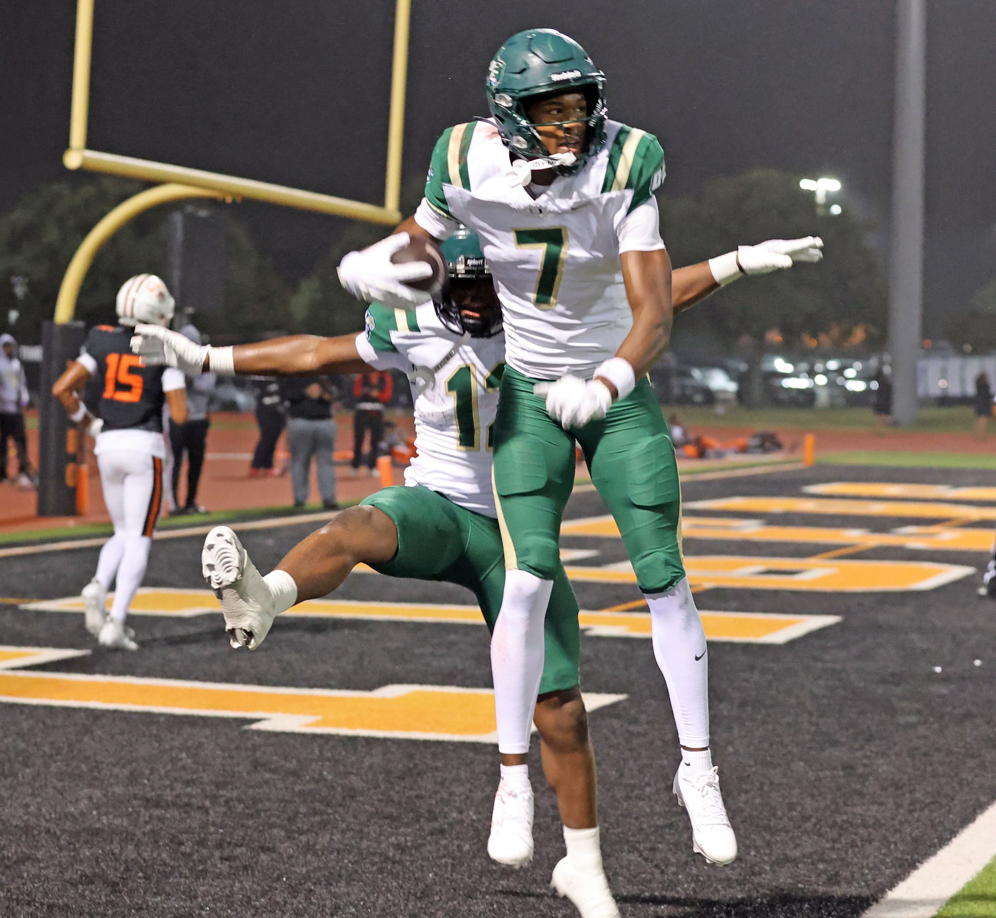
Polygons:
[[490,338],[501,331],[501,302],[477,233],[460,226],[442,244],[449,282],[433,301],[439,321],[458,335]]

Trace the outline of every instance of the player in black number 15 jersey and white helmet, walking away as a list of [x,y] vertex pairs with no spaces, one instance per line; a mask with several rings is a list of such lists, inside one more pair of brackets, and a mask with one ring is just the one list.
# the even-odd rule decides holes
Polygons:
[[[94,454],[104,502],[115,524],[115,534],[101,549],[97,573],[83,588],[87,630],[102,647],[138,648],[124,619],[145,575],[162,504],[163,401],[177,424],[187,417],[183,374],[146,366],[132,354],[131,326],[138,322],[168,326],[173,307],[166,285],[154,274],[129,278],[118,292],[119,324],[91,329],[79,358],[52,389],[70,420],[84,425],[97,441]],[[104,382],[97,418],[78,395],[92,377]],[[109,614],[108,590],[116,578]]]

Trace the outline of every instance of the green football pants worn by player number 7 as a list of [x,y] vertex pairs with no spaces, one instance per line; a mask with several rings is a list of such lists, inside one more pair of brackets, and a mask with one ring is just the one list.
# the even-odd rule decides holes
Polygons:
[[560,563],[560,527],[574,487],[575,442],[622,533],[644,593],[685,575],[677,463],[646,378],[601,421],[565,431],[533,395],[540,380],[511,367],[502,377],[494,425],[494,485],[508,569],[549,580]]

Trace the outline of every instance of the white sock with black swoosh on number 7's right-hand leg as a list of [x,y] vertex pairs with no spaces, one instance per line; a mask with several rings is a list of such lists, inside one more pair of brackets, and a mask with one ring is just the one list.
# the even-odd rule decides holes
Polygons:
[[682,746],[709,745],[709,655],[695,600],[682,577],[663,593],[646,594],[653,656],[667,683]]

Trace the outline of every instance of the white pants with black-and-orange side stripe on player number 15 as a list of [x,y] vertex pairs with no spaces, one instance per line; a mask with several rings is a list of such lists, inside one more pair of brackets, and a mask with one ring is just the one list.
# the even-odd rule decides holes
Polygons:
[[124,621],[145,576],[162,505],[162,459],[137,450],[108,450],[97,463],[115,534],[101,549],[96,576],[105,589],[117,578],[111,617]]

